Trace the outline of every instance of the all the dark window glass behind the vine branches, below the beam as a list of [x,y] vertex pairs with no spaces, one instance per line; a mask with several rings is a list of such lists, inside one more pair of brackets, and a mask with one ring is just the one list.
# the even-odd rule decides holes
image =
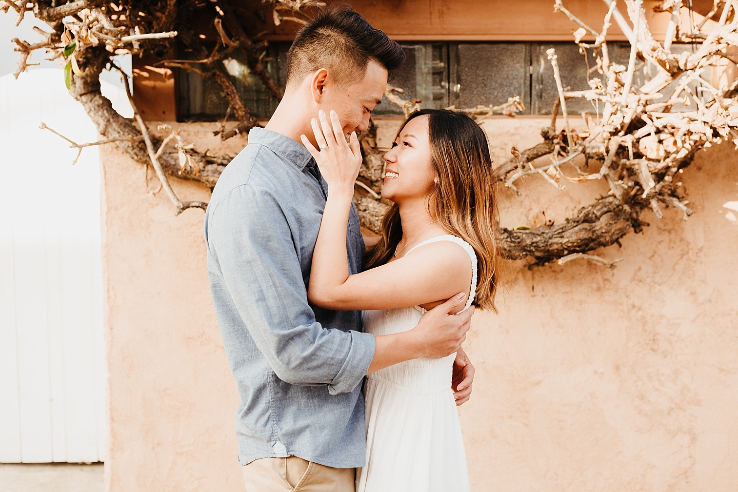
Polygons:
[[[588,80],[596,77],[604,84],[604,76],[597,71],[596,55],[588,49],[586,56],[579,46],[568,41],[557,43],[411,43],[401,44],[406,59],[396,72],[392,86],[404,89],[399,94],[404,100],[420,100],[421,108],[473,108],[476,105],[500,105],[508,97],[520,96],[525,104],[525,114],[551,114],[558,95],[554,70],[546,51],[556,49],[562,85],[570,91],[590,89]],[[608,43],[610,61],[627,68],[630,44]],[[212,49],[212,46],[211,46]],[[289,42],[271,43],[263,62],[269,73],[282,87],[286,82],[287,51]],[[682,53],[694,51],[691,44],[675,44],[672,51]],[[190,57],[191,58],[191,57]],[[255,117],[268,118],[277,108],[277,100],[266,90],[258,77],[249,72],[241,62],[239,52],[225,60],[224,65],[233,83],[241,94],[244,104]],[[196,64],[194,65],[196,66]],[[642,60],[636,61],[633,87],[638,89],[657,75],[655,66]],[[708,67],[702,77],[713,85],[717,81],[713,70]],[[662,91],[661,99],[652,103],[665,102],[679,81],[675,80]],[[703,84],[704,85],[704,84]],[[180,120],[222,119],[228,108],[223,90],[212,78],[201,80],[194,72],[179,70],[177,78]],[[708,92],[703,94],[699,82],[689,85],[692,92],[707,101]],[[685,93],[682,94],[682,97]],[[601,114],[603,103],[584,98],[568,99],[567,109],[571,114],[589,111]],[[694,102],[689,106],[675,105],[671,111],[694,111]],[[382,97],[382,103],[374,108],[377,116],[402,116],[399,106]],[[232,115],[231,115],[232,118]]]

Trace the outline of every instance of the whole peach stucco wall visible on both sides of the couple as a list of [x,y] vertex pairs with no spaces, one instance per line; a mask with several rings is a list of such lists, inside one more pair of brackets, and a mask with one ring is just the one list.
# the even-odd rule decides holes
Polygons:
[[[547,123],[489,120],[497,162]],[[185,141],[221,152],[214,125],[184,125]],[[203,214],[174,217],[163,193],[147,195],[141,164],[111,146],[101,155],[108,491],[241,492]],[[509,265],[500,314],[475,314],[466,342],[477,378],[459,413],[473,491],[738,490],[738,225],[722,208],[738,200],[737,157],[728,145],[700,152],[681,175],[692,218],[646,212],[642,234],[596,252],[624,257],[616,268]],[[542,210],[562,221],[607,192],[559,192],[539,176],[520,190],[500,192],[505,226]]]

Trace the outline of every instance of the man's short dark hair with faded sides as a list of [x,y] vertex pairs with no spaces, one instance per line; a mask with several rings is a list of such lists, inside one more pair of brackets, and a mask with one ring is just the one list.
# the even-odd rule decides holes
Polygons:
[[308,73],[325,68],[340,86],[364,78],[369,60],[387,69],[388,77],[405,59],[402,48],[374,29],[345,4],[320,10],[297,32],[287,53],[287,85],[299,84]]

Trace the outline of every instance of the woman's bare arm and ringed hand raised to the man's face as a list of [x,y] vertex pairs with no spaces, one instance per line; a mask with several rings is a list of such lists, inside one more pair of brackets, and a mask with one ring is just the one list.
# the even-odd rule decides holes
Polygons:
[[[354,196],[354,180],[359,173],[361,153],[355,134],[345,143],[337,116],[331,111],[331,130],[325,114],[321,128],[313,120],[320,152],[308,139],[303,144],[316,159],[325,181],[328,199],[313,252],[308,299],[321,308],[363,310],[400,308],[410,305],[431,307],[459,292],[468,295],[472,280],[469,254],[456,243],[439,241],[416,249],[405,257],[349,275],[346,254],[346,226]],[[325,135],[324,135],[325,134]]]

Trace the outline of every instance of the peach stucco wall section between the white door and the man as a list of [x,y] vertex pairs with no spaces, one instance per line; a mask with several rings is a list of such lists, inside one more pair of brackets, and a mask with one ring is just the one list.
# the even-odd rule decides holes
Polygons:
[[[220,139],[189,125],[199,150]],[[210,136],[210,139],[208,139]],[[245,145],[237,136],[231,155]],[[108,454],[106,490],[242,491],[233,415],[238,392],[207,283],[203,212],[174,216],[165,193],[149,196],[143,166],[112,145],[103,166]],[[151,170],[149,176],[152,176]],[[172,180],[182,199],[210,199]],[[150,187],[158,184],[151,179]]]

